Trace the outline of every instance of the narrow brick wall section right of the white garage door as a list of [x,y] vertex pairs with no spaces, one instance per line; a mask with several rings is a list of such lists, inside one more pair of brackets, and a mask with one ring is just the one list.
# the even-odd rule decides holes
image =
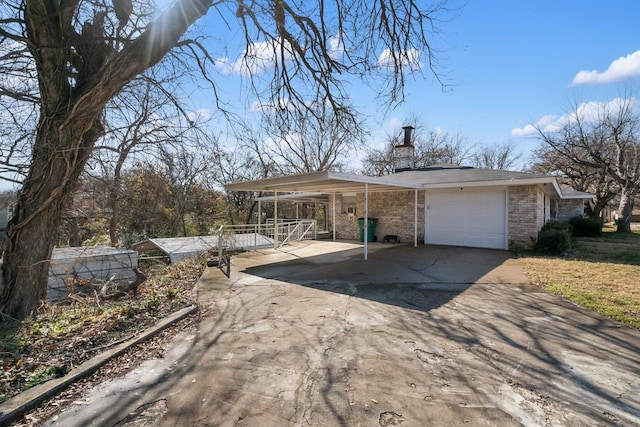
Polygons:
[[536,185],[509,187],[509,249],[532,247],[544,225],[544,193]]

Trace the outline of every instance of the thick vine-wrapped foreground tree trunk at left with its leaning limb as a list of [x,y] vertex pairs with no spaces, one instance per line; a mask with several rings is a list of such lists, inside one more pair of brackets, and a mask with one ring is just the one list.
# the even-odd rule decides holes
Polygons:
[[[26,0],[24,18],[40,87],[40,122],[29,174],[4,244],[0,314],[21,319],[47,294],[62,212],[102,129],[107,101],[160,61],[211,0],[180,0],[121,51],[104,38],[105,14],[77,33],[78,2]],[[77,75],[69,73],[70,62]]]

